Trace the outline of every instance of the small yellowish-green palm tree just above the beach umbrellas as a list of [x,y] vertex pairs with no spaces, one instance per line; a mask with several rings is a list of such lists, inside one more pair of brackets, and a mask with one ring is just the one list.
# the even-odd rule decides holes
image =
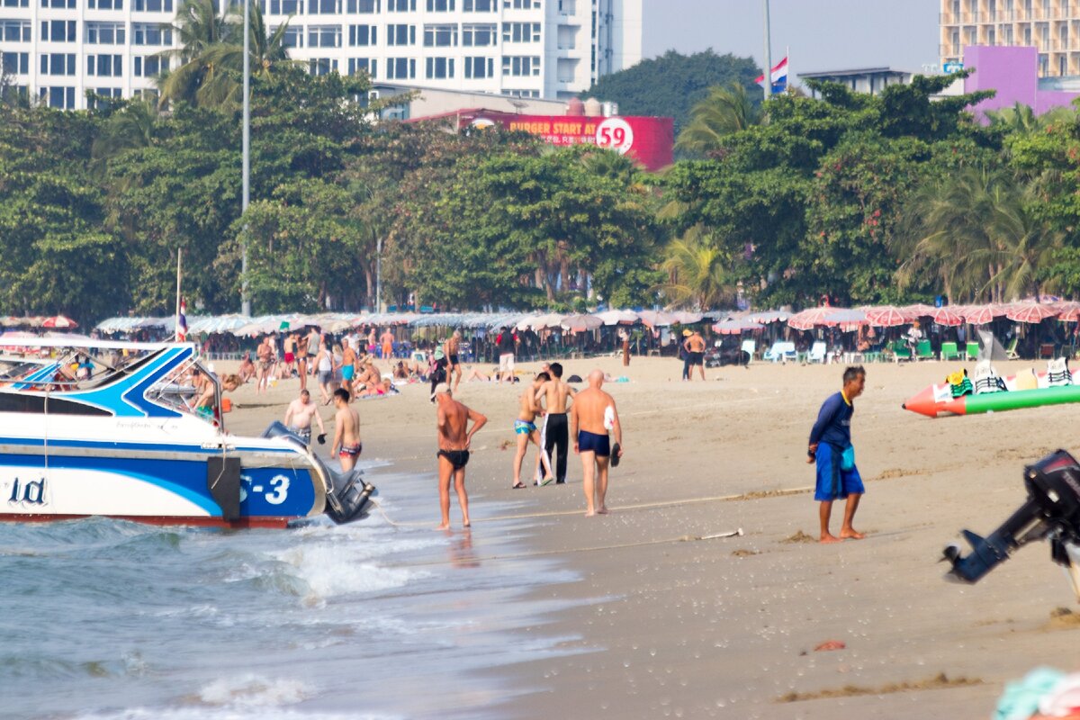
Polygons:
[[667,246],[661,266],[669,282],[658,288],[672,305],[701,310],[715,308],[734,298],[734,285],[727,268],[728,258],[717,248],[704,227],[694,226]]

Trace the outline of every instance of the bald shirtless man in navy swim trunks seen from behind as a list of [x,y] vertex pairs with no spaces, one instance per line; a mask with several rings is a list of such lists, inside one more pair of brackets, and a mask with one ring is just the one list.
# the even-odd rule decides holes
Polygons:
[[570,408],[570,432],[573,433],[573,451],[581,456],[584,473],[585,517],[607,515],[604,499],[607,495],[607,468],[612,459],[608,431],[615,433],[615,463],[622,458],[622,425],[615,398],[605,393],[604,372],[589,373],[589,388],[573,398]]

